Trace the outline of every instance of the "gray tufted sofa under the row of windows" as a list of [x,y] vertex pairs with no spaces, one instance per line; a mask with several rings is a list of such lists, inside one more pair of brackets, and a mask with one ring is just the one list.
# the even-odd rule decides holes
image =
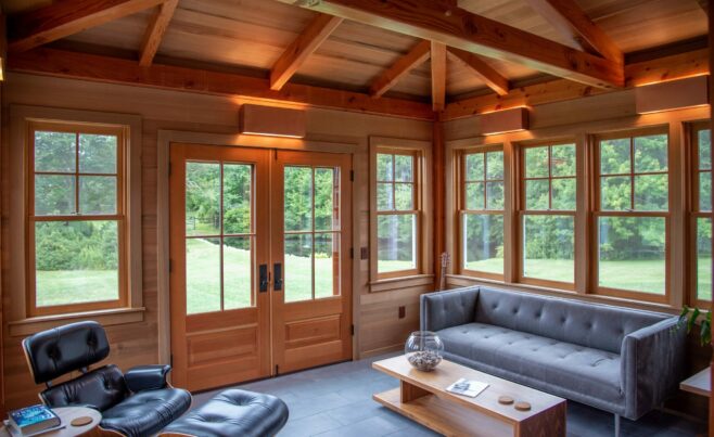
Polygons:
[[474,286],[421,296],[421,329],[445,358],[632,420],[660,406],[684,370],[677,318]]

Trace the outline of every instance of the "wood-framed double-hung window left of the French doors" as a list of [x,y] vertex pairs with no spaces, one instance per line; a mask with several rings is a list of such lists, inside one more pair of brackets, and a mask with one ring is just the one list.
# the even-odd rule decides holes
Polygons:
[[125,133],[34,121],[28,147],[28,313],[125,306]]

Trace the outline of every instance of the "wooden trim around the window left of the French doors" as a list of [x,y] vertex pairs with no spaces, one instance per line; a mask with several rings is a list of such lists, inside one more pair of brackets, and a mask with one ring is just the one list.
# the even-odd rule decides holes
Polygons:
[[[120,281],[125,281],[125,299],[120,305],[111,308],[98,308],[93,305],[86,307],[73,306],[66,308],[69,312],[63,313],[36,313],[31,311],[28,303],[28,214],[30,211],[28,202],[30,193],[28,190],[29,167],[28,145],[30,144],[29,124],[67,124],[78,125],[82,130],[93,129],[93,125],[100,129],[113,127],[123,130],[126,140],[124,156],[125,163],[125,235],[120,241],[126,247],[126,274]],[[141,260],[141,160],[140,151],[142,142],[141,117],[136,115],[99,113],[77,110],[49,108],[40,106],[12,105],[10,107],[10,147],[9,155],[9,180],[11,187],[22,189],[10,190],[9,203],[12,205],[9,211],[9,241],[8,247],[15,254],[8,262],[9,284],[12,290],[11,304],[8,306],[7,314],[11,335],[27,335],[42,329],[56,326],[68,320],[91,317],[99,322],[111,324],[131,323],[143,320],[143,295],[142,295],[142,260]],[[90,132],[91,133],[91,132]],[[118,170],[118,169],[117,169]],[[117,190],[119,191],[119,190]],[[102,216],[104,218],[104,216]]]

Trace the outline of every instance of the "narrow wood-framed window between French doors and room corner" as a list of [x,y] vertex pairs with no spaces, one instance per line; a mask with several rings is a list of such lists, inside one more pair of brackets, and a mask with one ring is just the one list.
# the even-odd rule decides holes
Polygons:
[[419,273],[418,153],[377,151],[377,273],[394,278]]

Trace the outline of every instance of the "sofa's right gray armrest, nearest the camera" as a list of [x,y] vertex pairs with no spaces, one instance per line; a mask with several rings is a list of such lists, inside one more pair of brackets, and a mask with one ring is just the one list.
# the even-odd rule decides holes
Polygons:
[[623,338],[621,384],[627,419],[639,419],[676,390],[685,370],[686,331],[673,317]]

